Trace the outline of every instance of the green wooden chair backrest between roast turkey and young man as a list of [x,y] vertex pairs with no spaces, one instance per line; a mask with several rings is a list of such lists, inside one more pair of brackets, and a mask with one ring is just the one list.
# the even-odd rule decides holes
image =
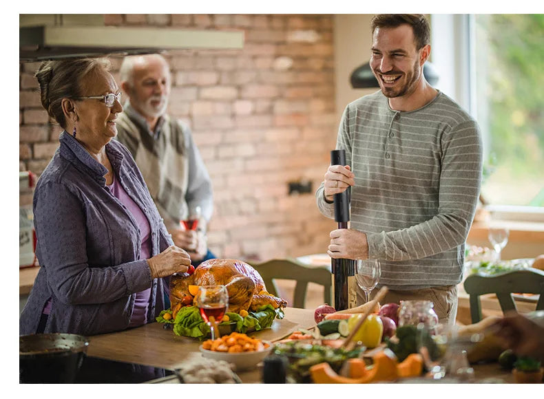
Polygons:
[[323,301],[331,303],[331,272],[326,268],[308,267],[296,259],[271,259],[262,263],[249,262],[255,270],[261,275],[266,290],[278,296],[278,285],[275,279],[295,280],[295,294],[293,303],[289,305],[293,308],[304,308],[306,303],[306,291],[308,283],[317,283],[324,286]]

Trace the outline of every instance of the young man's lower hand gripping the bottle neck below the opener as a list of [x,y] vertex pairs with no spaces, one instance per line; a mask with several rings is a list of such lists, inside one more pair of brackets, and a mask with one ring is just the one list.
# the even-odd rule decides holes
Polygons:
[[327,254],[333,259],[368,259],[366,234],[352,228],[331,231]]

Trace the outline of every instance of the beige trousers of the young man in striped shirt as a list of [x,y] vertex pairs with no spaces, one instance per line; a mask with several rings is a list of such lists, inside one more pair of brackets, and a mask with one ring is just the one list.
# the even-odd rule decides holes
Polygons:
[[[379,290],[370,294],[373,299]],[[420,290],[389,290],[381,305],[400,303],[400,301],[431,301],[438,316],[439,323],[452,327],[457,316],[457,285],[442,285]],[[364,292],[357,290],[357,302],[364,303]]]

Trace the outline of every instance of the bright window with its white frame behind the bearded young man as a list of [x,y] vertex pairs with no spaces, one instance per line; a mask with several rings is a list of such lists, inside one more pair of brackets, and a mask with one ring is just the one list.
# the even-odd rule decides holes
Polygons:
[[437,88],[481,127],[490,208],[544,211],[543,39],[543,14],[431,15]]

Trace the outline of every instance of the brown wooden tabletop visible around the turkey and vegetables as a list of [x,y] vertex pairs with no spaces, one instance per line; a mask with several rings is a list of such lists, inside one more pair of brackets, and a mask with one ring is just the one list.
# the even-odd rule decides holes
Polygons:
[[[284,319],[276,319],[271,328],[250,335],[273,341],[297,328],[308,328],[313,325],[315,325],[313,310],[286,308]],[[165,330],[163,324],[151,323],[122,332],[90,336],[87,354],[109,360],[175,369],[187,361],[200,358],[199,346],[200,341],[195,338],[176,336],[171,330]],[[501,370],[498,363],[474,365],[474,373],[478,381],[485,382],[485,378],[501,378],[503,382],[514,382],[512,375]],[[261,380],[260,368],[241,371],[238,375],[246,383]],[[177,380],[172,376],[161,382],[176,383]]]

